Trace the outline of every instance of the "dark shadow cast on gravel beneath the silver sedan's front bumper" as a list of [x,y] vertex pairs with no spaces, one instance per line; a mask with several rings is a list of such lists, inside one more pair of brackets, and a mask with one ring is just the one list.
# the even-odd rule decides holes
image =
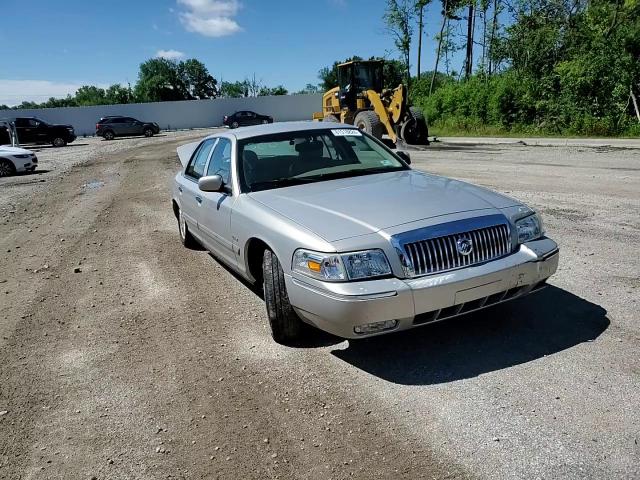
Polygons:
[[606,310],[550,286],[442,323],[349,341],[336,357],[389,382],[431,385],[530,362],[596,339]]

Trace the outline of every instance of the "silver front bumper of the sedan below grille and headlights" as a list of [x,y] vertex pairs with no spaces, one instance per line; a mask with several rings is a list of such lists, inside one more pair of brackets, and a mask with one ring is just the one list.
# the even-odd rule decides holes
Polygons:
[[397,320],[405,330],[461,315],[536,290],[558,268],[556,243],[542,238],[482,265],[401,280],[319,282],[286,275],[289,300],[308,323],[343,338],[362,338],[354,328]]

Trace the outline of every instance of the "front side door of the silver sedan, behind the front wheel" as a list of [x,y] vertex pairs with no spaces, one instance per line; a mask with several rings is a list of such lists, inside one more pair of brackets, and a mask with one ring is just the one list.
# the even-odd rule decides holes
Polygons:
[[219,138],[206,175],[220,175],[223,191],[200,192],[202,203],[198,215],[198,229],[206,247],[230,265],[236,265],[231,238],[231,210],[235,200],[231,186],[231,140]]

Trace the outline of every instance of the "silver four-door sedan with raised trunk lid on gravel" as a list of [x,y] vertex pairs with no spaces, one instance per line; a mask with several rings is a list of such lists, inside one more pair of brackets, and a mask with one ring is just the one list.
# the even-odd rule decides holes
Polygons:
[[280,343],[303,322],[345,338],[436,322],[538,290],[558,266],[530,208],[412,170],[349,125],[241,128],[178,154],[182,242],[263,285]]

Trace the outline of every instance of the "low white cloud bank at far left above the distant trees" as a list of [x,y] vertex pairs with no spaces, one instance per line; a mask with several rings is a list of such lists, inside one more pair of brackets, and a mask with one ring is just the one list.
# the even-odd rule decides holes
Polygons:
[[[50,97],[63,98],[76,93],[82,85],[95,85],[95,83],[0,79],[0,105],[19,105],[23,101],[41,103],[49,100]],[[97,86],[104,88],[104,85]]]

